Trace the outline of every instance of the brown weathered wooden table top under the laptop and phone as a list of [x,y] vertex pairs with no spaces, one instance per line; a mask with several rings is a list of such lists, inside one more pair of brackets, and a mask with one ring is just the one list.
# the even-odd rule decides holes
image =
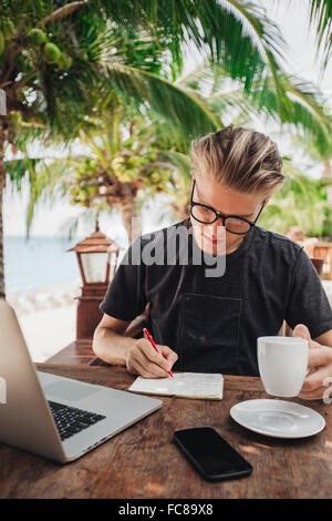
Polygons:
[[[125,368],[38,364],[40,370],[127,389]],[[266,398],[260,379],[225,377],[222,401],[163,397],[162,409],[83,458],[60,466],[0,445],[1,498],[331,498],[331,406],[304,402],[322,413],[326,428],[302,440],[278,440],[238,426],[229,409],[241,400]],[[252,467],[248,478],[204,481],[173,443],[177,429],[209,426]]]

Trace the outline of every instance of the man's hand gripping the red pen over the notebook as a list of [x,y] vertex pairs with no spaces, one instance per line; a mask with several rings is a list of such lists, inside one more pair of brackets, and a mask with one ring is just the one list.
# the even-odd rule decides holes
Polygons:
[[167,346],[157,347],[159,355],[146,338],[139,338],[126,353],[126,366],[132,375],[144,378],[167,378],[178,356]]

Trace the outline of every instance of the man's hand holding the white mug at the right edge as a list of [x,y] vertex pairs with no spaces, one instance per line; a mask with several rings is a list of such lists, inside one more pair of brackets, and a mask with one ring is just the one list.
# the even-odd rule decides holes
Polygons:
[[332,348],[312,340],[308,327],[303,324],[295,326],[293,337],[305,338],[309,345],[309,372],[299,398],[318,400],[323,398],[324,392],[329,396],[328,386],[332,382]]

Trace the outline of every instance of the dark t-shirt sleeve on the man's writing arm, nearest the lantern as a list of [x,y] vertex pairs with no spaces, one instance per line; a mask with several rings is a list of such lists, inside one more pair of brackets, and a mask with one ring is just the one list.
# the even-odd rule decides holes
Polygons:
[[[144,292],[144,265],[137,258],[138,244],[134,242],[126,251],[100,305],[100,309],[106,315],[121,320],[133,320],[144,311],[147,304]],[[133,255],[134,251],[136,258]]]

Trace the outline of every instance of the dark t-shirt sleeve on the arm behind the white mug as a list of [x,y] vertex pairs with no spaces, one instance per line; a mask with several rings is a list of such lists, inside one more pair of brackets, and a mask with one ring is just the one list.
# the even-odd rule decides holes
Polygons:
[[294,329],[304,324],[317,338],[332,329],[332,309],[319,274],[302,248],[295,262],[286,321]]

